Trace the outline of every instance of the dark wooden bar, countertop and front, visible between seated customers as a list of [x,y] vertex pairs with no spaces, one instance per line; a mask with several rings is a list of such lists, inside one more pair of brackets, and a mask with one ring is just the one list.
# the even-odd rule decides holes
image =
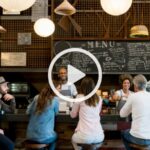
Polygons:
[[[1,126],[6,129],[8,136],[18,142],[23,141],[29,116],[25,110],[17,110],[15,114],[1,115]],[[78,118],[72,119],[69,114],[59,113],[55,120],[55,130],[58,133],[57,149],[72,149],[71,137],[77,125]],[[117,113],[101,114],[101,123],[105,131],[105,140],[120,140],[120,130],[130,127],[127,118],[120,118]]]

